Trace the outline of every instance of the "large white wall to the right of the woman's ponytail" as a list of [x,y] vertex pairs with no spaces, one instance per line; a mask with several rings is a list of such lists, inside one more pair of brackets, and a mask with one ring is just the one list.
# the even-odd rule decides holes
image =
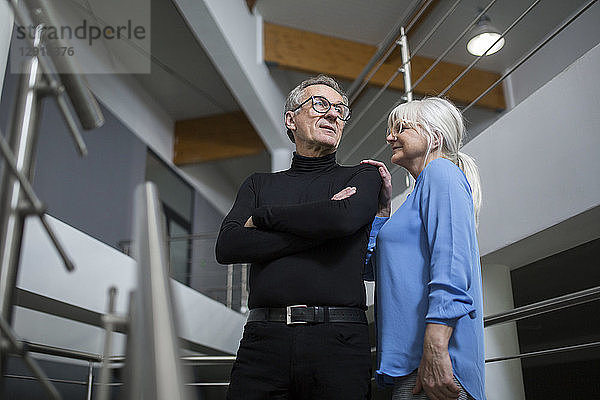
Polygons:
[[465,146],[481,172],[482,255],[599,205],[599,70],[596,46]]

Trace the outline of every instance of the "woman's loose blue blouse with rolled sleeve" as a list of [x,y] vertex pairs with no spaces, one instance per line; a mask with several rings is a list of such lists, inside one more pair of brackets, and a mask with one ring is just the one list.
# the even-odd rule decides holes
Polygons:
[[[369,276],[370,275],[370,276]],[[454,375],[485,399],[481,265],[471,187],[451,161],[431,161],[390,218],[371,229],[365,279],[375,279],[377,381],[410,374],[423,354],[425,325],[454,328]]]

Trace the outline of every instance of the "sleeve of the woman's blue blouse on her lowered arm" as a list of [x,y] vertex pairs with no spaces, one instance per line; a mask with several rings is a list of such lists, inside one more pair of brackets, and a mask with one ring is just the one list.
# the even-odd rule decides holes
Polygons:
[[462,172],[449,161],[432,162],[422,174],[420,212],[430,252],[425,320],[454,326],[465,315],[475,318],[468,293],[475,267],[471,191]]

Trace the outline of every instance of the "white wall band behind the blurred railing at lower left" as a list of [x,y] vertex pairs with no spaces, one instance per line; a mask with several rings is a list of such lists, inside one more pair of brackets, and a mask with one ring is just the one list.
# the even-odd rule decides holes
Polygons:
[[[98,313],[106,312],[107,293],[118,289],[117,312],[127,310],[136,285],[136,263],[130,257],[50,217],[51,226],[72,257],[76,271],[65,271],[36,219],[28,219],[18,287]],[[221,303],[171,280],[179,335],[217,352],[235,354],[245,318]],[[17,309],[17,333],[27,340],[93,353],[102,351],[103,331],[55,316]],[[121,338],[122,339],[122,338]],[[114,349],[123,354],[122,340]]]

